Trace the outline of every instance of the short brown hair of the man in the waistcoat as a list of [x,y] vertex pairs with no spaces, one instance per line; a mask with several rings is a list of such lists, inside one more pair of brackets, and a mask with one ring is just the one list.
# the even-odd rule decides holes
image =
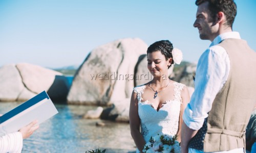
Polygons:
[[208,2],[208,9],[211,18],[214,19],[218,12],[223,12],[227,21],[225,25],[232,28],[234,18],[237,15],[237,5],[233,0],[197,0],[196,5],[199,6],[204,2]]

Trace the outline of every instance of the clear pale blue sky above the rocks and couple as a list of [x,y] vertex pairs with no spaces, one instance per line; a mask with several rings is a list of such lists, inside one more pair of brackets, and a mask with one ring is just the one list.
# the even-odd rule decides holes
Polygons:
[[[256,50],[256,1],[235,2],[233,30]],[[0,66],[80,65],[93,48],[120,38],[168,39],[196,62],[210,44],[193,27],[196,11],[191,0],[0,0]]]

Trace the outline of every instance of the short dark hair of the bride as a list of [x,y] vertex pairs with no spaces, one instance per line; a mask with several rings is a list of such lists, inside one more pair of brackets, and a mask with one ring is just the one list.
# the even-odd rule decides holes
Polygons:
[[[147,48],[146,55],[148,53],[160,51],[161,54],[164,55],[166,61],[168,60],[168,58],[172,58],[172,64],[174,64],[172,54],[173,48],[173,44],[169,40],[157,41]],[[172,64],[170,66],[172,66]],[[170,68],[170,66],[168,66],[168,68]]]

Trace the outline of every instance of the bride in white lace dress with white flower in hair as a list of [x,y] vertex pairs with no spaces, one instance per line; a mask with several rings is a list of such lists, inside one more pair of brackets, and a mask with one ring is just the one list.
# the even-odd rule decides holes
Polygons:
[[147,48],[147,68],[154,79],[134,88],[129,113],[137,152],[142,152],[145,143],[157,134],[177,134],[180,142],[182,115],[189,94],[184,84],[168,78],[167,71],[181,60],[181,51],[168,40],[157,41]]

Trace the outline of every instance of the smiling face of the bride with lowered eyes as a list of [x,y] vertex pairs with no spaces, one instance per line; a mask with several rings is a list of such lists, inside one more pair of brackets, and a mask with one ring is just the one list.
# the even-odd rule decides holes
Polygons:
[[154,76],[166,75],[168,73],[168,66],[171,64],[170,62],[172,62],[170,58],[166,60],[160,51],[147,54],[147,69]]

